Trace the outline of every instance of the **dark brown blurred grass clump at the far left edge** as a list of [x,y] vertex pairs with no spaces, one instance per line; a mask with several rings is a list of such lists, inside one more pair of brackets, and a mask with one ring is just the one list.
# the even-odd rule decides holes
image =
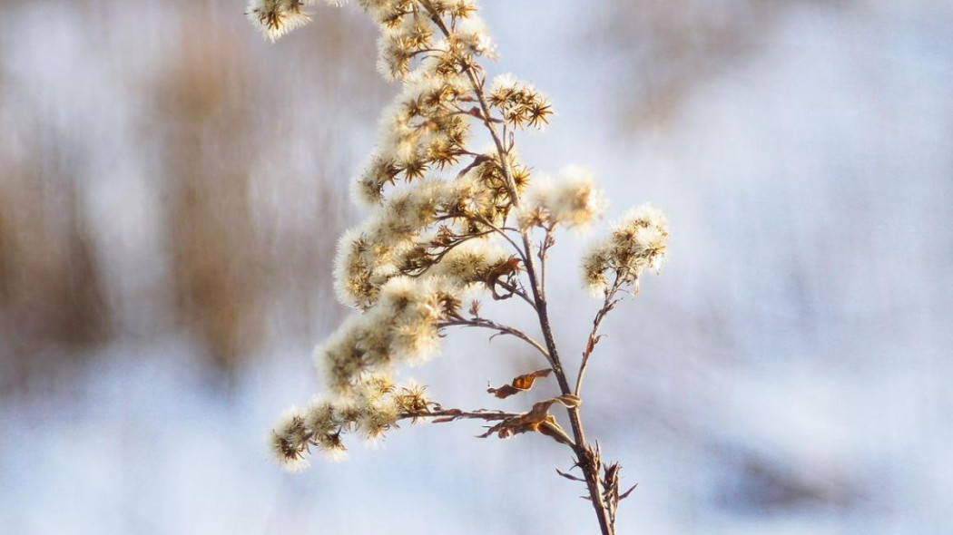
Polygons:
[[0,157],[0,351],[15,363],[5,379],[27,373],[33,355],[89,347],[108,331],[110,309],[71,172],[77,156],[59,142],[30,139],[26,153]]

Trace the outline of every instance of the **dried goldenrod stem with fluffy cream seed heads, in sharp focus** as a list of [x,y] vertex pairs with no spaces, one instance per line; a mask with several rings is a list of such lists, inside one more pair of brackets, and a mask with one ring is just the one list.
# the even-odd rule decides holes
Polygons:
[[[307,23],[317,3],[252,0],[246,14],[274,41]],[[380,27],[377,67],[400,92],[354,181],[355,202],[371,215],[341,237],[335,259],[338,299],[355,311],[315,350],[327,391],[281,417],[274,456],[293,470],[308,466],[314,451],[340,458],[345,435],[378,440],[401,421],[478,419],[491,424],[482,437],[538,432],[571,450],[578,472],[560,475],[586,485],[601,533],[615,533],[619,500],[631,489],[620,489],[618,464],[603,463],[598,445],[586,439],[583,376],[603,319],[639,291],[642,273],[662,267],[665,217],[648,205],[634,208],[582,255],[583,287],[601,307],[578,364],[569,367],[550,322],[546,265],[560,228],[590,226],[606,208],[593,173],[571,166],[548,177],[520,160],[517,132],[547,125],[552,105],[512,74],[488,81],[484,65],[496,50],[473,0],[357,4]],[[489,149],[476,148],[476,136]],[[532,311],[541,341],[485,317],[486,300]],[[545,363],[489,388],[493,398],[553,379],[560,395],[525,412],[462,410],[429,399],[425,386],[395,382],[399,367],[433,357],[454,327],[516,337]],[[559,425],[556,407],[566,411],[570,429]]]

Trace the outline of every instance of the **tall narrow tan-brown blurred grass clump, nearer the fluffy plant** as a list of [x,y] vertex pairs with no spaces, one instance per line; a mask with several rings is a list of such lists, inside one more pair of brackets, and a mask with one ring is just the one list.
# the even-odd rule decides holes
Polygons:
[[[228,61],[234,48],[185,37],[154,89],[155,117],[165,118],[154,142],[167,177],[175,317],[228,365],[260,342],[274,259],[254,228],[255,132],[243,95],[228,85],[238,74]],[[254,80],[243,82],[246,98],[267,102]]]

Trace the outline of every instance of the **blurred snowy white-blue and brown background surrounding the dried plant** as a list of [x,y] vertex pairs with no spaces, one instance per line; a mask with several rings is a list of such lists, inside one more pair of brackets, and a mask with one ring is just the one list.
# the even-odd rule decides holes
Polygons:
[[[558,110],[527,163],[671,220],[587,374],[589,435],[639,483],[619,533],[953,533],[953,3],[482,4],[491,74]],[[270,463],[346,314],[335,240],[395,87],[354,8],[275,45],[243,9],[0,0],[3,531],[595,533],[544,437],[404,426]],[[587,239],[555,249],[566,355]],[[407,373],[476,407],[537,365],[454,332]]]

